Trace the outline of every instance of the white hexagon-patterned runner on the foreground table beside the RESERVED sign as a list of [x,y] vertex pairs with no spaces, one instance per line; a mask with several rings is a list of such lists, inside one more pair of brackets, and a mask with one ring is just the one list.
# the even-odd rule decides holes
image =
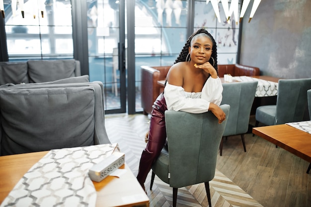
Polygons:
[[88,170],[119,151],[118,144],[51,150],[4,199],[1,207],[94,207],[96,190]]

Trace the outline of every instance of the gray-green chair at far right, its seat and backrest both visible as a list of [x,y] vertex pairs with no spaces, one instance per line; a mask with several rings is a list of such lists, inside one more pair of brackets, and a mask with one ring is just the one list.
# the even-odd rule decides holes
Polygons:
[[311,78],[279,80],[276,105],[257,107],[255,126],[259,123],[269,126],[303,121],[309,89],[311,89]]

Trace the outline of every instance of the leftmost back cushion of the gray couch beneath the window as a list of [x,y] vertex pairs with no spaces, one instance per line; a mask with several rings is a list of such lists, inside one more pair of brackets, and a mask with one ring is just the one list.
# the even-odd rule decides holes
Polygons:
[[0,63],[0,85],[29,83],[27,63]]

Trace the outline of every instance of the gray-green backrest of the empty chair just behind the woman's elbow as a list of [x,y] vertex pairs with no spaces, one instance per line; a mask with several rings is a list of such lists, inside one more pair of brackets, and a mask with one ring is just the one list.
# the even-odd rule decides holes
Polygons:
[[230,115],[223,136],[246,133],[249,116],[257,89],[257,81],[234,82],[223,84],[223,100],[221,104],[230,105]]

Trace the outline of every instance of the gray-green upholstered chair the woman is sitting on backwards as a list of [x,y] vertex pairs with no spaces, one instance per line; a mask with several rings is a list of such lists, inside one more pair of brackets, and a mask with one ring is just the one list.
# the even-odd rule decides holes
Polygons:
[[[221,105],[229,114],[230,105]],[[178,188],[205,183],[209,206],[209,181],[215,176],[219,144],[227,119],[222,124],[212,112],[188,113],[165,111],[167,146],[163,147],[152,167],[152,190],[155,176],[173,188],[176,207]]]

